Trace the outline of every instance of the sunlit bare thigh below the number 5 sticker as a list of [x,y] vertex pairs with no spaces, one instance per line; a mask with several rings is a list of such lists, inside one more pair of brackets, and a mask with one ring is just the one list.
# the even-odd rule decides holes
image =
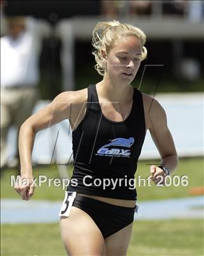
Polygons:
[[75,206],[68,218],[61,217],[61,237],[68,255],[106,255],[105,241],[96,223]]

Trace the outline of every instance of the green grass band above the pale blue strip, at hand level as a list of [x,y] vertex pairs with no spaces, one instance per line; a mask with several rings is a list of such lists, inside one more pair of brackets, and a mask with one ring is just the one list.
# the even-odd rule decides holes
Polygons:
[[[157,161],[140,161],[138,163],[137,175],[141,175],[142,178],[146,178],[149,172],[150,163],[157,163]],[[34,177],[38,175],[47,175],[50,178],[59,178],[59,172],[57,166],[41,166],[33,168]],[[69,177],[73,166],[68,166]],[[1,178],[1,198],[19,198],[13,187],[10,186],[10,175],[16,174],[15,170],[5,170],[3,177]],[[189,191],[191,188],[203,186],[203,159],[202,158],[186,158],[180,159],[179,168],[173,173],[173,175],[187,175],[189,184],[188,186],[170,186],[170,187],[156,187],[153,182],[150,182],[151,186],[137,186],[138,200],[152,200],[152,199],[165,199],[165,198],[181,198],[191,196]],[[61,186],[55,187],[47,186],[47,183],[38,186],[35,189],[33,199],[44,200],[62,200],[64,198],[64,190]]]

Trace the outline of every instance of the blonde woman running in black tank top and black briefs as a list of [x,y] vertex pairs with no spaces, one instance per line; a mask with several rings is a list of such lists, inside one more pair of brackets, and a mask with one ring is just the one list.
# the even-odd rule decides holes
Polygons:
[[68,255],[126,255],[136,210],[133,180],[147,129],[161,155],[150,166],[157,184],[177,168],[178,157],[157,100],[131,82],[147,56],[146,36],[118,21],[98,22],[92,54],[103,79],[88,88],[62,92],[28,118],[19,132],[23,200],[34,193],[31,152],[36,132],[68,119],[72,128],[74,170],[59,215]]

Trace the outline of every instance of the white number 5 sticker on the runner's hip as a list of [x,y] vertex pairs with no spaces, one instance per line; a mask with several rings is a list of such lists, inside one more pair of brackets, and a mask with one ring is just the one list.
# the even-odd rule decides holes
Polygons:
[[69,217],[69,213],[71,211],[71,206],[75,200],[77,192],[73,191],[65,191],[64,201],[62,203],[62,207],[59,211],[59,216]]

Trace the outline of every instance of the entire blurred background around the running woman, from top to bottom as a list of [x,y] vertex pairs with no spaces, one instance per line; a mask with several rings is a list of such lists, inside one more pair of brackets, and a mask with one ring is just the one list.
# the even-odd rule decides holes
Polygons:
[[[92,29],[113,19],[147,35],[147,60],[132,84],[156,92],[180,157],[175,174],[189,178],[187,187],[138,188],[143,218],[136,216],[128,255],[204,254],[203,16],[203,1],[1,0],[2,255],[66,255],[57,225],[62,188],[45,184],[31,202],[21,202],[10,187],[10,175],[20,172],[17,134],[57,94],[101,80],[91,54]],[[38,132],[32,160],[36,177],[71,177],[69,122]],[[136,176],[147,177],[151,163],[159,163],[159,154],[147,133]]]

